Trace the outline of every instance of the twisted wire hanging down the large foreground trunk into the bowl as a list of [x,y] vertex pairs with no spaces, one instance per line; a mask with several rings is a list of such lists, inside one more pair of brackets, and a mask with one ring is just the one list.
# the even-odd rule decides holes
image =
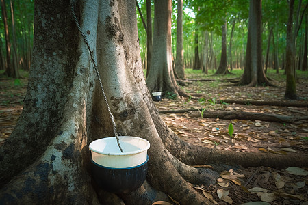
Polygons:
[[97,74],[97,78],[99,79],[99,86],[101,87],[101,92],[103,93],[104,100],[105,100],[105,103],[107,105],[107,110],[108,110],[108,113],[109,113],[110,118],[112,120],[112,126],[113,126],[113,129],[114,129],[114,136],[116,137],[116,143],[118,143],[118,148],[120,148],[121,152],[123,152],[123,150],[120,146],[120,140],[118,139],[118,133],[116,132],[116,122],[114,122],[114,115],[112,115],[112,112],[110,111],[110,106],[108,104],[108,100],[107,100],[107,97],[106,97],[106,94],[105,94],[103,83],[101,83],[101,77],[99,75],[99,70],[97,69],[97,61],[94,58],[93,51],[90,49],[90,45],[89,45],[89,42],[88,42],[86,35],[84,34],[84,31],[81,30],[81,27],[78,23],[77,17],[75,15],[74,5],[75,5],[75,1],[72,1],[71,10],[72,10],[73,18],[75,20],[75,24],[77,25],[77,28],[78,28],[82,38],[84,38],[84,42],[86,43],[88,50],[90,52],[90,57],[91,57],[91,61],[92,61],[93,67],[94,67],[94,71]]

